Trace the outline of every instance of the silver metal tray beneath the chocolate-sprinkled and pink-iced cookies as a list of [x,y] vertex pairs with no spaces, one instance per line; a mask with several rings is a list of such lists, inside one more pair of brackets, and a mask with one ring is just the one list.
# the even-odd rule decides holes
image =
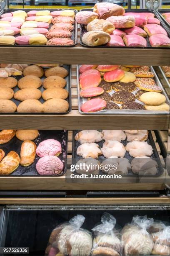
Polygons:
[[[163,95],[165,95],[166,97],[166,103],[170,104],[170,100],[168,99],[168,96],[165,93],[165,90],[157,76],[157,74],[155,73],[155,70],[153,69],[153,67],[150,67],[150,71],[153,72],[155,74],[154,80],[155,83],[160,86],[160,88],[163,90]],[[93,112],[93,113],[87,113],[87,112],[82,112],[81,111],[81,105],[82,103],[87,101],[87,98],[85,97],[80,97],[80,84],[79,84],[79,66],[77,66],[77,88],[78,88],[78,110],[80,112],[80,114],[82,115],[168,115],[169,112],[168,111],[153,111],[153,110],[130,110],[130,109],[115,109],[115,110],[100,110],[98,112]],[[135,92],[137,92],[138,89],[136,89],[134,92],[132,92],[133,94],[135,94]],[[112,90],[111,92],[109,92],[111,95],[112,93],[115,92],[114,90]],[[139,101],[139,100],[135,100],[135,102],[139,102],[140,104],[145,105],[143,102]],[[118,104],[121,105],[121,104]]]

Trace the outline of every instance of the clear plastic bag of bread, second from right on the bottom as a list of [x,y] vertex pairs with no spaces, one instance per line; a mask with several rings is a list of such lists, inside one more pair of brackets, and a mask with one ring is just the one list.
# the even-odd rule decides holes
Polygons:
[[147,229],[153,219],[147,216],[134,216],[131,224],[122,229],[122,243],[124,255],[150,255],[153,250],[153,239]]

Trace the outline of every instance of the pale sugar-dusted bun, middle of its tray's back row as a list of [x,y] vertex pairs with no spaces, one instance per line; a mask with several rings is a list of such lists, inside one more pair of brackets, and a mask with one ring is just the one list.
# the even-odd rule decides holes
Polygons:
[[122,130],[102,130],[102,139],[121,142],[126,139],[126,135]]

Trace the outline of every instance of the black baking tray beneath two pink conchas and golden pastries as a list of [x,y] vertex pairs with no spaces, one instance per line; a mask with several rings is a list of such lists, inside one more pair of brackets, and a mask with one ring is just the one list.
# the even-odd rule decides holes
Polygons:
[[[39,136],[33,141],[38,146],[40,142],[47,140],[47,139],[55,139],[60,141],[62,146],[62,153],[58,156],[60,160],[64,164],[64,168],[62,172],[58,175],[54,175],[54,177],[62,176],[67,171],[67,141],[68,141],[68,131],[66,130],[50,130],[50,131],[39,131]],[[5,156],[10,151],[15,151],[20,156],[21,144],[23,141],[20,141],[16,136],[14,136],[9,142],[0,145],[0,149],[5,151]],[[0,175],[0,177],[7,177],[7,176],[43,176],[43,177],[53,177],[53,175],[40,175],[37,173],[36,164],[37,161],[40,159],[39,156],[35,156],[34,163],[30,166],[24,167],[19,165],[18,168],[12,172],[10,175]]]

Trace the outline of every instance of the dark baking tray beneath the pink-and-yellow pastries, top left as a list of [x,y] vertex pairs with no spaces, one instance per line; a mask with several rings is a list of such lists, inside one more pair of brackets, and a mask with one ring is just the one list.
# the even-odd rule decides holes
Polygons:
[[[53,12],[53,11],[62,11],[62,10],[73,10],[74,12],[75,12],[75,15],[76,15],[76,13],[77,13],[77,10],[75,10],[75,9],[69,9],[69,8],[67,8],[67,9],[62,9],[62,8],[59,8],[59,9],[4,9],[4,10],[2,10],[1,11],[1,13],[0,13],[0,16],[2,15],[2,14],[4,14],[4,13],[11,13],[11,12],[14,12],[14,11],[16,11],[16,10],[24,10],[26,13],[28,13],[29,11],[31,11],[31,10],[49,10],[50,12]],[[50,28],[52,27],[52,23],[50,24],[50,27],[49,27],[49,29],[48,30],[50,30]],[[77,22],[75,21],[75,24],[73,25],[74,26],[74,30],[72,31],[72,36],[71,36],[71,39],[74,41],[74,44],[72,44],[72,45],[19,45],[19,44],[15,44],[15,45],[10,45],[10,47],[25,47],[25,46],[29,46],[29,47],[73,47],[73,46],[75,46],[76,44],[77,44]],[[18,35],[15,35],[15,37],[17,37],[17,36],[20,36],[20,34],[18,34]],[[0,47],[3,47],[3,46],[7,46],[7,45],[0,45]]]

